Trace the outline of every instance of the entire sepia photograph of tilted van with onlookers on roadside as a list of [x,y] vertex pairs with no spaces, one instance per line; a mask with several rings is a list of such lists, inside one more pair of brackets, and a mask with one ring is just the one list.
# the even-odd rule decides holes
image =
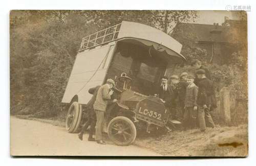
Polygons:
[[11,10],[10,155],[248,156],[250,10]]

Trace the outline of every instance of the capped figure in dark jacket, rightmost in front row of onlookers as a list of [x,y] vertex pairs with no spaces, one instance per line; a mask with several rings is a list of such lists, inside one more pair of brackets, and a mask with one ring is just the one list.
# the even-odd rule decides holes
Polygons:
[[206,78],[205,70],[199,69],[196,72],[197,77],[200,79],[198,83],[198,97],[197,97],[197,105],[198,105],[198,120],[201,131],[205,131],[206,125],[205,122],[209,124],[210,127],[214,128],[215,124],[212,121],[209,107],[211,105],[211,96],[214,93],[212,89],[213,82]]

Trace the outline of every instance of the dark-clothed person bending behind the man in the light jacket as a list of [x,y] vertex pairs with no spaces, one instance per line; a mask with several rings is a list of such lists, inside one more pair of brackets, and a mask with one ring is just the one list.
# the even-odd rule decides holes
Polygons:
[[86,131],[86,129],[89,126],[91,126],[88,140],[89,141],[95,141],[95,139],[93,138],[93,134],[94,134],[94,131],[95,131],[95,126],[96,126],[96,114],[95,114],[95,111],[93,109],[93,104],[96,100],[96,96],[97,96],[97,92],[99,90],[99,87],[100,87],[100,85],[98,85],[96,87],[93,87],[93,88],[90,88],[88,90],[88,92],[90,94],[93,94],[93,96],[92,96],[91,100],[86,105],[86,109],[88,110],[89,117],[88,117],[88,121],[82,126],[82,129],[81,129],[80,133],[78,134],[78,138],[80,140],[82,140],[83,132]]

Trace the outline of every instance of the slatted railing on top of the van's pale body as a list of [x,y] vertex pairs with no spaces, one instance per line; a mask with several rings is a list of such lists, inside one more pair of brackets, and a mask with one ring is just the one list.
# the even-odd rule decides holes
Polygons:
[[104,30],[98,31],[96,33],[93,33],[89,36],[83,37],[79,51],[86,50],[92,48],[93,46],[104,44],[106,42],[110,42],[117,39],[120,27],[121,23],[106,28]]

